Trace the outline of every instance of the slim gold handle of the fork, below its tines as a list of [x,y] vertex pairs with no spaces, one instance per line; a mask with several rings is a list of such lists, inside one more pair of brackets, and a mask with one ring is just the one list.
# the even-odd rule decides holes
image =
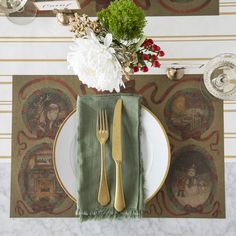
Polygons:
[[101,206],[106,206],[110,202],[105,165],[105,144],[101,144],[101,174],[98,191],[98,202]]

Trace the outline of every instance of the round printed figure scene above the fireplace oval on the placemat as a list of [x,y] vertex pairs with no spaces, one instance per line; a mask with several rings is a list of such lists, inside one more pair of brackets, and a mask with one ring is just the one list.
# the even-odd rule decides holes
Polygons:
[[70,99],[61,90],[43,88],[32,93],[23,109],[23,121],[37,138],[54,138],[60,124],[73,110]]

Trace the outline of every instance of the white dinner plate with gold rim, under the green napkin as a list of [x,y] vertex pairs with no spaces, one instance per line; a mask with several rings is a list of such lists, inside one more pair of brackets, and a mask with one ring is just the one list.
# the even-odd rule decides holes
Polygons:
[[[73,111],[60,126],[54,142],[53,165],[64,191],[76,201],[76,113]],[[145,202],[164,183],[170,166],[170,145],[166,132],[153,113],[141,109],[141,157],[144,165]]]

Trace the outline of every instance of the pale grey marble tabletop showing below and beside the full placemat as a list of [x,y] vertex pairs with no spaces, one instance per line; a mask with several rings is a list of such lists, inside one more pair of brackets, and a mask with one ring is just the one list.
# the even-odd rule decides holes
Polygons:
[[236,236],[236,163],[225,164],[226,219],[142,219],[80,223],[71,218],[12,219],[10,163],[0,163],[1,236]]

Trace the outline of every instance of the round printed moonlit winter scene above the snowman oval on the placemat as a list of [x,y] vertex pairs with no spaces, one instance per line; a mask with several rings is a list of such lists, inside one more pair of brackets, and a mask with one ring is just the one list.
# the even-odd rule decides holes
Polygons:
[[183,140],[199,139],[214,117],[212,101],[195,88],[176,92],[166,103],[165,120],[170,131]]

